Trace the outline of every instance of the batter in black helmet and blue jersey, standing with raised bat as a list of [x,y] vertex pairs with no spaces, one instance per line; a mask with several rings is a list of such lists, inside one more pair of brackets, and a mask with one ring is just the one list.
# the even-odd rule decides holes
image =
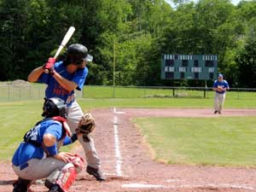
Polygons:
[[[82,90],[88,68],[86,64],[92,61],[93,57],[88,54],[88,49],[83,44],[71,44],[67,48],[67,55],[64,61],[57,61],[50,57],[48,62],[41,67],[35,68],[29,75],[28,81],[47,84],[45,96],[47,98],[56,96],[67,104],[67,124],[75,133],[83,111],[76,102],[74,90]],[[48,70],[49,73],[44,73]],[[100,159],[97,156],[94,141],[91,134],[87,139],[79,138],[79,143],[84,148],[87,167],[86,172],[96,177],[96,180],[103,181],[105,178],[100,170]]]

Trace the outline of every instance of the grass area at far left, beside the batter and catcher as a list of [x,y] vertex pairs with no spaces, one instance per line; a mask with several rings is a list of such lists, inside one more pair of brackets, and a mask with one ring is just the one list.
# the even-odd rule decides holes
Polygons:
[[0,103],[0,158],[13,154],[23,135],[41,119],[41,102]]

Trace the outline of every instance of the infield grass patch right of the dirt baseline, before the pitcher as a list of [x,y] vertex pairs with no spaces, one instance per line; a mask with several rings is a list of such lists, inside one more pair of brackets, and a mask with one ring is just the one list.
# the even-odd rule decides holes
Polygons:
[[154,159],[174,164],[256,166],[256,119],[137,118]]

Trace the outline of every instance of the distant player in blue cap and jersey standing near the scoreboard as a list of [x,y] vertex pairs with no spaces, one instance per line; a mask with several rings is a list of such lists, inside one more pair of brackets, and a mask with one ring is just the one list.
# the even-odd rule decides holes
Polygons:
[[218,79],[214,81],[212,90],[215,90],[214,97],[214,113],[222,113],[224,108],[224,101],[226,96],[226,90],[230,89],[230,85],[223,79],[223,74],[218,74]]

